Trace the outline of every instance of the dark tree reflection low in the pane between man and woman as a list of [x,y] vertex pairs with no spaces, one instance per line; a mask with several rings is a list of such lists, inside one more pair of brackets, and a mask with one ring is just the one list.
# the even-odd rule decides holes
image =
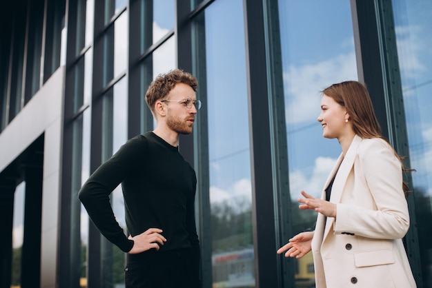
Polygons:
[[252,207],[242,198],[237,203],[213,203],[211,210],[213,251],[230,251],[251,247]]

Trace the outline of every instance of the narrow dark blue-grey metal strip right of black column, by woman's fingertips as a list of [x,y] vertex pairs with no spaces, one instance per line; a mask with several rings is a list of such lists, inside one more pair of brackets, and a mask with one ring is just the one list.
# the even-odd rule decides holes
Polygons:
[[[268,45],[268,91],[271,121],[271,146],[273,154],[273,183],[275,195],[275,226],[277,247],[293,236],[291,194],[288,182],[288,143],[284,100],[284,79],[280,40],[279,7],[277,0],[264,1],[264,23]],[[278,256],[277,265],[282,287],[295,287],[295,259]]]

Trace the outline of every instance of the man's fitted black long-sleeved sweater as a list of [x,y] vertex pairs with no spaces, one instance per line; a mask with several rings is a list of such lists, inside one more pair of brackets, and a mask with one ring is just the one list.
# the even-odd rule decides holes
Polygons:
[[135,136],[102,164],[79,191],[90,219],[110,242],[127,252],[128,240],[115,220],[110,193],[121,183],[126,225],[132,236],[160,228],[166,243],[159,251],[193,247],[199,261],[195,227],[197,178],[177,147],[153,132]]

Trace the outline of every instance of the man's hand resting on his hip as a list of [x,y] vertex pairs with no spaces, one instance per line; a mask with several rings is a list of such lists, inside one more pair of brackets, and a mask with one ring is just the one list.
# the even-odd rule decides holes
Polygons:
[[133,240],[133,247],[129,254],[139,254],[150,249],[159,250],[159,245],[164,245],[166,242],[166,238],[161,233],[162,230],[159,228],[149,228],[146,232],[129,236],[128,238]]

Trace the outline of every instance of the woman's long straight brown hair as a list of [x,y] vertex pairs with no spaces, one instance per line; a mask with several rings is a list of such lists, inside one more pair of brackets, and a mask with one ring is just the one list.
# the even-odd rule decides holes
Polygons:
[[[328,86],[328,88],[322,90],[322,94],[326,94],[326,96],[333,98],[333,100],[345,107],[350,116],[350,121],[353,123],[355,134],[362,138],[381,138],[389,143],[381,134],[381,127],[375,116],[371,96],[369,96],[366,85],[358,81],[344,81]],[[390,147],[392,146],[390,145]],[[404,168],[402,161],[405,157],[399,156],[393,147],[392,149],[395,156],[400,160],[402,172],[413,171],[413,169]],[[403,181],[402,189],[405,196],[408,197],[411,191]]]

